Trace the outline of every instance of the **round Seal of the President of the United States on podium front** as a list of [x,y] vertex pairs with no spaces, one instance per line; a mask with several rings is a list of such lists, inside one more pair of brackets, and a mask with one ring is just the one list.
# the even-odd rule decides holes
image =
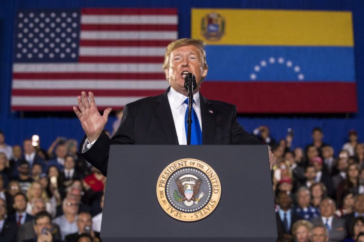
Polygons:
[[205,218],[219,202],[221,185],[216,172],[196,159],[169,164],[157,182],[157,198],[172,218],[192,222]]

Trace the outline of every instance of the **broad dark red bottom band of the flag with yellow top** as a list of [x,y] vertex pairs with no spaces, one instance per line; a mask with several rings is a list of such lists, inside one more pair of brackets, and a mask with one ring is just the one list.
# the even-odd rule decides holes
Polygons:
[[205,81],[201,93],[206,98],[235,104],[239,113],[358,111],[355,83]]

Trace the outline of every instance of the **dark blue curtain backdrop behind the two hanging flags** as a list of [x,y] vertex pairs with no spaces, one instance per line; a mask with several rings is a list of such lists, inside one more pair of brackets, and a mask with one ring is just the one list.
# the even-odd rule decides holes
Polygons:
[[[338,10],[351,11],[353,14],[356,76],[359,112],[343,118],[327,115],[314,116],[270,116],[239,117],[239,121],[248,132],[259,125],[268,125],[271,135],[284,138],[287,128],[295,131],[294,146],[303,147],[311,142],[313,127],[321,127],[325,133],[324,141],[330,143],[336,153],[347,140],[349,129],[356,129],[361,141],[364,141],[364,1],[363,0],[1,0],[0,1],[0,130],[5,133],[10,145],[21,144],[24,138],[33,134],[41,136],[41,146],[48,148],[57,136],[81,140],[83,131],[76,118],[21,118],[21,114],[11,112],[11,74],[12,40],[14,16],[21,8],[81,8],[81,7],[168,7],[178,8],[179,37],[190,37],[191,8],[252,8],[252,9],[302,9],[302,10]],[[223,71],[223,70],[221,70]],[[340,98],[338,96],[337,98]],[[76,100],[76,97],[75,97]],[[76,101],[75,101],[76,102]],[[107,128],[111,130],[111,117]]]

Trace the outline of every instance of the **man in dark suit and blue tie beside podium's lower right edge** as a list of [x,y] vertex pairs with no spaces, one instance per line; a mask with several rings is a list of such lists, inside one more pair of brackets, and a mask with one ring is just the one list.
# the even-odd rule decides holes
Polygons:
[[276,197],[276,203],[280,206],[278,212],[276,212],[278,238],[287,237],[292,235],[292,225],[301,217],[292,212],[292,198],[287,192],[279,192]]

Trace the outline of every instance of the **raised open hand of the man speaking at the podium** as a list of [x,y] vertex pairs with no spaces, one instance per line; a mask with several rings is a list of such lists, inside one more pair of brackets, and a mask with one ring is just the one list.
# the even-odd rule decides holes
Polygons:
[[[88,142],[98,139],[104,129],[108,116],[112,110],[108,107],[101,116],[95,103],[94,94],[89,91],[88,98],[85,91],[81,92],[81,96],[77,97],[78,108],[73,106],[73,111],[80,120],[83,131],[85,132]],[[79,110],[80,109],[80,110]]]

